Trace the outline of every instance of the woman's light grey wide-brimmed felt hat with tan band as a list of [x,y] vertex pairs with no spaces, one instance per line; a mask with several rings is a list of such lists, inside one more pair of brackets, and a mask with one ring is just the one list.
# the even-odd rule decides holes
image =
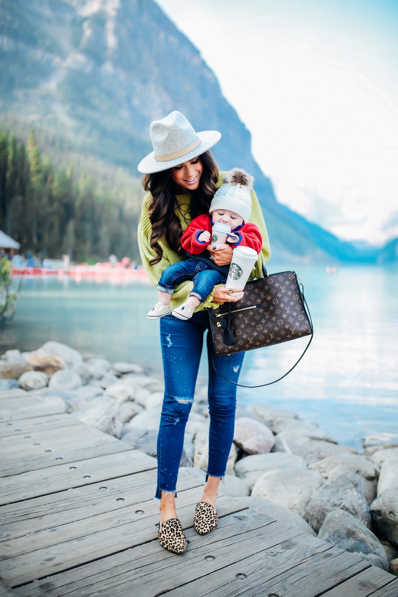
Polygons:
[[143,174],[161,172],[188,162],[221,139],[218,131],[195,133],[190,122],[177,110],[151,122],[149,133],[153,152],[138,164],[138,171]]

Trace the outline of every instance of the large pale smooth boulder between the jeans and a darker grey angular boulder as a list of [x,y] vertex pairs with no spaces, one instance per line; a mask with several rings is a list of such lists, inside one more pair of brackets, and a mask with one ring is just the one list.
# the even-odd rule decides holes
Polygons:
[[265,497],[304,518],[308,501],[324,483],[313,470],[269,470],[254,485],[252,496]]

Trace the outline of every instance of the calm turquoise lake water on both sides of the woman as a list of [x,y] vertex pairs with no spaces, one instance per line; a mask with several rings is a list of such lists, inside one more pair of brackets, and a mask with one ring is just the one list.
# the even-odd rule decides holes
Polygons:
[[[270,272],[283,271],[275,266]],[[238,389],[240,404],[263,401],[316,421],[329,436],[361,447],[377,433],[398,441],[398,269],[299,266],[314,323],[313,343],[284,380]],[[150,284],[110,285],[69,278],[24,279],[14,320],[0,328],[1,351],[33,350],[58,340],[85,357],[140,362],[161,376],[159,322],[146,313],[156,302]],[[285,373],[307,339],[248,352],[241,383],[259,384]],[[200,381],[206,378],[202,358]]]

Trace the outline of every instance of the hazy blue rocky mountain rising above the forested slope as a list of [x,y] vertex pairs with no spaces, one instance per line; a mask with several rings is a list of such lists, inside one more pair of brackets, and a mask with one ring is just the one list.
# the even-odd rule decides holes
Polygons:
[[[245,76],[236,78],[250,93]],[[152,150],[150,122],[175,109],[198,131],[221,131],[221,170],[254,175],[276,256],[377,259],[377,250],[341,242],[277,202],[214,73],[153,0],[1,0],[0,114],[55,131],[69,150],[137,176]]]

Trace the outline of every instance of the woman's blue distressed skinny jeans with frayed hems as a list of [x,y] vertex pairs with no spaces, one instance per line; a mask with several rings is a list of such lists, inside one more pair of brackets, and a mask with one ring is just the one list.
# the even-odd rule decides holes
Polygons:
[[[158,499],[161,498],[162,491],[175,492],[177,487],[184,431],[193,404],[208,316],[200,311],[194,313],[191,319],[182,321],[167,315],[161,319],[160,324],[165,396],[158,435],[158,487],[155,494]],[[207,350],[210,416],[207,473],[223,477],[233,441],[236,386],[215,373],[211,359],[213,346],[210,334],[207,336]],[[215,367],[224,376],[237,381],[244,356],[243,352],[231,356],[214,356]]]

